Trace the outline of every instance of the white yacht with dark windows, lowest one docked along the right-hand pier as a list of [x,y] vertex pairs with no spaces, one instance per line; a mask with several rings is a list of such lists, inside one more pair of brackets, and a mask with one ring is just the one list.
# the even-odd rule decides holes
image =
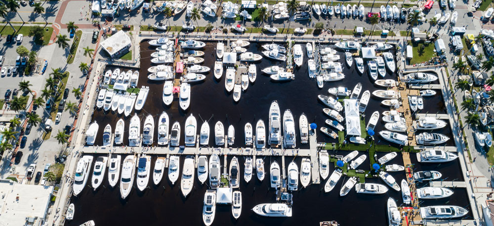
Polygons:
[[420,207],[420,217],[422,219],[452,219],[460,218],[468,213],[463,207],[444,205]]

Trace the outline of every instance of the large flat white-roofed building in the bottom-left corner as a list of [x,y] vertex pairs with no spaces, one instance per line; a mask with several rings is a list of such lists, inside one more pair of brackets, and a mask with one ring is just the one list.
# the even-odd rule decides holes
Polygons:
[[43,225],[52,192],[53,186],[0,180],[0,225]]

